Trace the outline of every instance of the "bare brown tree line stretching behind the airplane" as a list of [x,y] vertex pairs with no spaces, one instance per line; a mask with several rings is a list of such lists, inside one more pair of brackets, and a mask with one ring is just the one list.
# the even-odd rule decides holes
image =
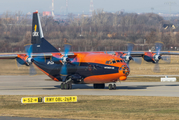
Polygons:
[[[103,10],[96,10],[91,16],[68,14],[66,19],[42,14],[40,17],[45,38],[62,51],[65,42],[72,44],[72,51],[127,50],[128,42],[135,44],[134,50],[155,50],[156,41],[163,42],[165,50],[179,47],[179,18],[169,21],[155,13]],[[22,12],[2,14],[0,52],[24,52],[24,45],[31,41],[31,23],[32,16]]]

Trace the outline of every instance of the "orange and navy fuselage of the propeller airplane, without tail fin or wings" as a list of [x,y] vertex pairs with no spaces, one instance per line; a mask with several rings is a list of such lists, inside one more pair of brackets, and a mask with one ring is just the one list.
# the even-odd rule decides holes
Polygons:
[[[68,75],[81,76],[82,81],[79,83],[95,84],[126,80],[130,72],[128,65],[121,58],[113,55],[102,52],[74,52],[74,56],[71,63],[67,64],[67,71]],[[47,64],[48,61],[50,59],[46,59],[43,63],[34,61],[34,64],[53,80],[62,81],[60,74],[62,64],[60,62]]]

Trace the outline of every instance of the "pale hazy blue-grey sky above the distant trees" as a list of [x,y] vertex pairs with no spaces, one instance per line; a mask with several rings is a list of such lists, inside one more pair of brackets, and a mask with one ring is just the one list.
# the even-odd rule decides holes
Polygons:
[[[153,12],[170,13],[169,2],[171,0],[93,0],[94,9],[103,9],[104,11],[120,11],[125,12]],[[171,12],[179,13],[179,1],[172,1]],[[51,11],[52,0],[0,0],[0,13],[5,11],[23,13],[34,12],[38,10]],[[64,13],[66,0],[54,0],[55,13]],[[85,13],[89,12],[90,0],[68,0],[69,13]]]

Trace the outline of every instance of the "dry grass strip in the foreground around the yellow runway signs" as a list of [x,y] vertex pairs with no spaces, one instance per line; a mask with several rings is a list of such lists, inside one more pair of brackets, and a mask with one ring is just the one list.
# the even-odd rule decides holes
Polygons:
[[20,103],[21,97],[0,96],[0,116],[87,120],[179,118],[178,97],[78,96],[77,103],[26,105]]

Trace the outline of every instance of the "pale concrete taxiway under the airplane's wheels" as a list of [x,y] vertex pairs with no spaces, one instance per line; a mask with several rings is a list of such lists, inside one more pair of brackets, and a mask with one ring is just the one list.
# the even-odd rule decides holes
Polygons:
[[93,89],[92,84],[61,90],[48,76],[0,76],[0,95],[130,95],[179,97],[179,82],[117,82],[116,90]]

